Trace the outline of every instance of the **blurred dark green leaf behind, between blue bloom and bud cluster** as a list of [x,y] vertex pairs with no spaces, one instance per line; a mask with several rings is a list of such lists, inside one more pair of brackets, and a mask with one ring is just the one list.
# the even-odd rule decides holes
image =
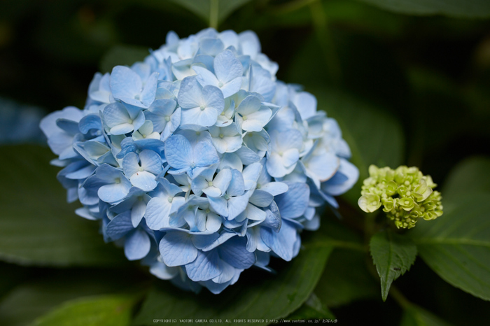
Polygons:
[[391,166],[402,163],[404,139],[402,127],[395,118],[370,104],[339,91],[311,88],[318,99],[318,109],[337,119],[342,136],[351,148],[351,162],[359,169],[359,179],[344,197],[357,206],[360,187],[369,176],[371,164]]

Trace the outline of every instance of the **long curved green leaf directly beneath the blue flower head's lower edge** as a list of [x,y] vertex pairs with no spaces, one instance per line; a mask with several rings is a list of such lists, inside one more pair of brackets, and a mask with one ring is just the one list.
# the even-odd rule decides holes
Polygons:
[[[251,269],[220,295],[203,290],[199,295],[176,289],[167,282],[153,289],[136,319],[136,325],[153,325],[154,318],[266,320],[288,316],[298,309],[314,290],[332,246],[320,243],[318,232],[308,234],[304,248],[291,262],[283,264],[277,274]],[[304,234],[303,234],[304,236]]]

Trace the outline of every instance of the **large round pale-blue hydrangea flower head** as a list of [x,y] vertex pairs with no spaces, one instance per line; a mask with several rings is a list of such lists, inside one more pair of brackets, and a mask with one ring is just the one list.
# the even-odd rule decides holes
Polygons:
[[96,73],[83,110],[41,122],[76,213],[195,292],[293,259],[358,169],[337,122],[277,69],[252,31],[204,29]]

